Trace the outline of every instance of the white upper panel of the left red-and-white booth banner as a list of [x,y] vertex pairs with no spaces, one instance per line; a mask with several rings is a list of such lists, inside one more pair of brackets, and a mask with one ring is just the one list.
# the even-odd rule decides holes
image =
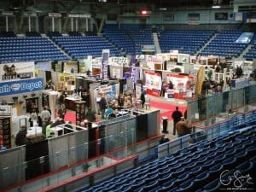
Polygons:
[[145,78],[149,90],[161,90],[162,79],[159,73],[145,72]]

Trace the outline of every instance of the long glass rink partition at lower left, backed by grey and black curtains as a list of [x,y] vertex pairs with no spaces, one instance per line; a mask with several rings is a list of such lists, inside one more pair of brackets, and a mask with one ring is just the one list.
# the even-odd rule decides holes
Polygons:
[[0,154],[0,189],[41,176],[36,184],[20,186],[21,191],[38,191],[136,154],[136,117],[108,119],[90,129],[76,126],[66,135]]

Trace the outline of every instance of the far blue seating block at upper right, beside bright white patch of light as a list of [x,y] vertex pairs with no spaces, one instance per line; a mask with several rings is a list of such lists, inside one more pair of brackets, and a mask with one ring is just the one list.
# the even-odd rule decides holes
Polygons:
[[236,39],[240,37],[241,31],[222,31],[207,44],[201,51],[201,55],[219,55],[228,58],[238,57],[247,48],[247,44],[238,44]]

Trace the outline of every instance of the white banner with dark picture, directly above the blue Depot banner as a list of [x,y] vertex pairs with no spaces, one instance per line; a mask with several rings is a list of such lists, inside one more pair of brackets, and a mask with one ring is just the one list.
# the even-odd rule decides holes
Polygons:
[[0,65],[1,81],[34,78],[34,62],[16,62]]

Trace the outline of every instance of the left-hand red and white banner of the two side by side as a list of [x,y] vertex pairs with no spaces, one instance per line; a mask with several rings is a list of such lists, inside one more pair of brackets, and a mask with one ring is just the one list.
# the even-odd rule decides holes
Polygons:
[[147,87],[147,93],[152,96],[160,96],[160,90],[161,90],[161,75],[160,73],[154,73],[154,72],[145,72],[145,80],[146,80],[146,87]]

